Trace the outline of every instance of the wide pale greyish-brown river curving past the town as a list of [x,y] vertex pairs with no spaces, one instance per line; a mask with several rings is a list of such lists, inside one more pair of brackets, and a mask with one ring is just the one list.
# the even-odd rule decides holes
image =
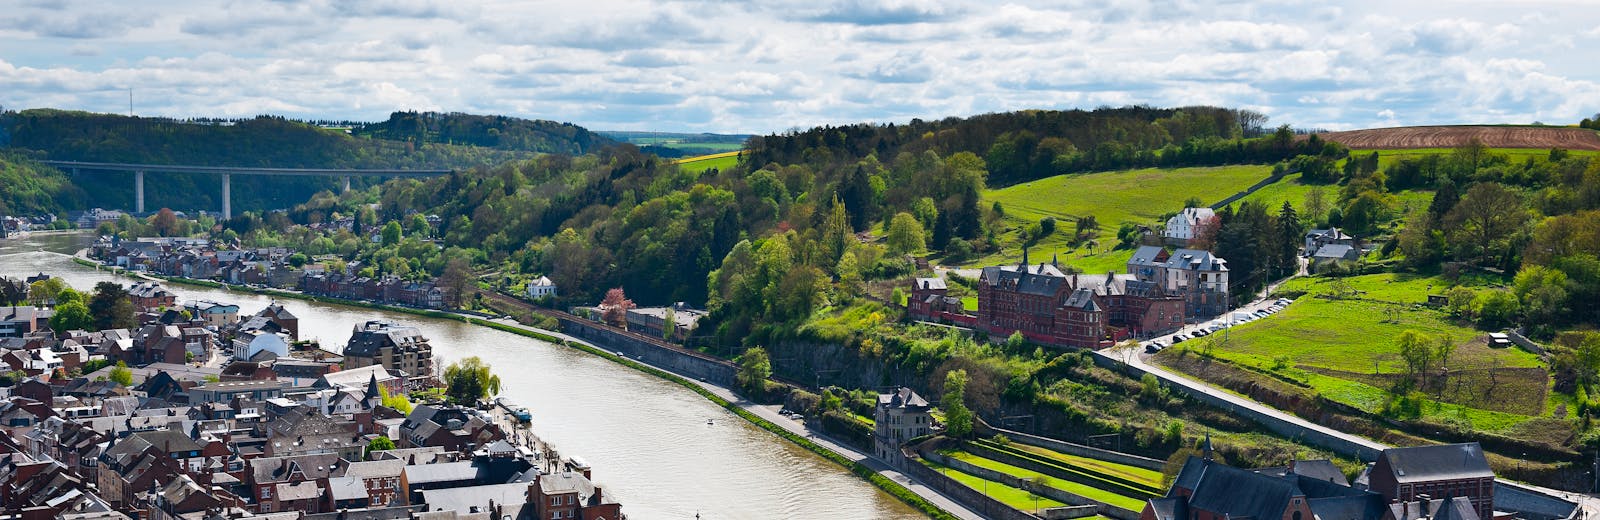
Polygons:
[[[98,282],[130,283],[62,254],[85,242],[82,234],[0,240],[0,275],[45,272],[85,293]],[[250,293],[168,288],[179,301],[238,304],[240,314],[269,302]],[[533,413],[533,432],[594,466],[595,482],[632,518],[920,518],[843,467],[699,394],[603,358],[451,320],[298,299],[283,306],[301,318],[302,339],[330,349],[342,347],[357,323],[387,318],[418,326],[440,370],[451,360],[482,357],[499,374],[501,395]]]

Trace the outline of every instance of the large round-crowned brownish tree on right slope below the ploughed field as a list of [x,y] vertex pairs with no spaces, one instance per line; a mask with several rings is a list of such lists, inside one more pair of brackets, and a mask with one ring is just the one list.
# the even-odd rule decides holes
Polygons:
[[1478,182],[1467,190],[1450,214],[1451,245],[1462,253],[1478,253],[1477,259],[1493,264],[1494,256],[1510,246],[1512,234],[1528,222],[1522,197],[1499,182]]

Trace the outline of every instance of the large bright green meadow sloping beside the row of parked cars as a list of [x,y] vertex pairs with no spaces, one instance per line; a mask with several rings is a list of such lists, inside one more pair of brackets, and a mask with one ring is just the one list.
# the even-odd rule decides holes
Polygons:
[[[1194,339],[1184,347],[1200,349],[1211,342],[1219,360],[1299,381],[1326,398],[1378,413],[1392,398],[1389,384],[1406,371],[1395,338],[1406,330],[1427,338],[1446,334],[1456,344],[1448,368],[1462,384],[1446,384],[1437,395],[1429,395],[1424,418],[1504,432],[1550,408],[1549,378],[1538,355],[1515,347],[1491,349],[1483,331],[1458,325],[1442,310],[1422,306],[1427,294],[1440,294],[1451,286],[1446,280],[1405,274],[1344,280],[1357,291],[1354,298],[1315,298],[1331,293],[1331,278],[1291,280],[1280,291],[1307,291],[1307,296],[1272,317],[1234,326],[1226,334]],[[1469,286],[1491,282],[1462,280]],[[1170,349],[1157,358],[1194,371],[1197,360],[1182,358],[1186,349]],[[1488,370],[1502,376],[1488,378]]]

